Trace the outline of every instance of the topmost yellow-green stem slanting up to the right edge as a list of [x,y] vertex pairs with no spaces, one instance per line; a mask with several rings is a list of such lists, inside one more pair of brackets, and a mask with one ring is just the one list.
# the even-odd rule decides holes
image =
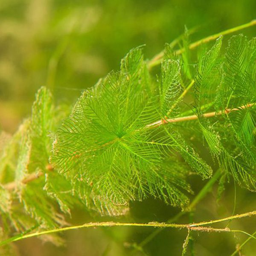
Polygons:
[[[236,32],[236,31],[239,31],[241,29],[245,29],[245,28],[248,28],[248,27],[254,26],[254,25],[256,25],[256,20],[252,20],[252,21],[250,21],[248,23],[245,23],[243,25],[236,26],[234,28],[221,31],[221,32],[219,32],[217,34],[214,34],[214,35],[209,35],[206,38],[203,38],[201,40],[195,41],[192,44],[189,44],[189,49],[194,49],[194,48],[198,47],[201,44],[205,44],[205,43],[208,43],[209,41],[213,41],[216,38],[218,38],[220,35],[228,35],[228,34],[231,34],[233,32]],[[178,49],[178,50],[175,51],[175,54],[180,55],[182,52],[184,52],[184,50],[185,50],[184,48]],[[157,66],[158,64],[160,64],[161,61],[163,60],[163,55],[164,55],[164,52],[160,52],[157,55],[155,55],[151,59],[151,61],[148,62],[148,68],[151,69],[152,67]]]

